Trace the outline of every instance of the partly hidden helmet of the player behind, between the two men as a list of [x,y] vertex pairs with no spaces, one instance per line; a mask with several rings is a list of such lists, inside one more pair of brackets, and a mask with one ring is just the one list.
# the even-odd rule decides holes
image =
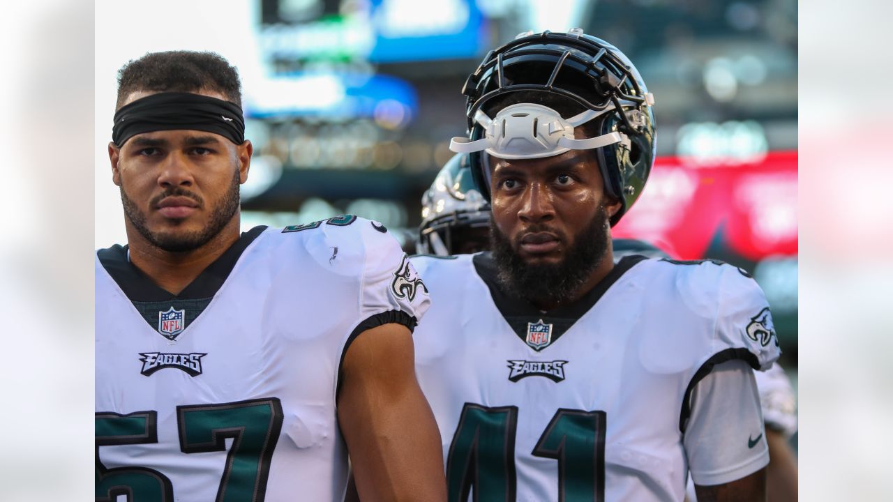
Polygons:
[[468,155],[453,157],[421,196],[418,252],[456,255],[488,246],[490,206],[472,181]]

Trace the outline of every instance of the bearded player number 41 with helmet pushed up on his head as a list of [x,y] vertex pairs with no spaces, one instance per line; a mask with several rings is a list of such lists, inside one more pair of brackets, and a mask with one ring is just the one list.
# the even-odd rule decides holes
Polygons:
[[645,187],[654,97],[580,29],[525,33],[466,81],[469,155],[493,251],[413,258],[432,307],[416,372],[448,499],[765,497],[752,368],[779,356],[737,268],[630,256],[611,227]]

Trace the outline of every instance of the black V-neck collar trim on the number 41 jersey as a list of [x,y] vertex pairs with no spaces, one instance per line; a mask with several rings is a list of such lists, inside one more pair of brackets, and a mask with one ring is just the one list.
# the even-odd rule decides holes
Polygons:
[[540,319],[547,324],[553,325],[552,343],[555,343],[555,340],[569,330],[574,322],[577,322],[593,305],[596,305],[598,299],[605,295],[605,292],[611,288],[614,282],[619,280],[633,265],[643,260],[647,260],[647,257],[642,255],[623,256],[620,262],[614,264],[613,269],[611,269],[611,272],[608,272],[605,279],[601,280],[595,288],[590,289],[579,300],[570,305],[555,307],[544,314],[540,312],[536,305],[513,294],[512,291],[503,290],[497,279],[497,264],[494,262],[491,252],[487,251],[472,256],[474,269],[478,272],[480,279],[487,284],[493,303],[497,305],[497,309],[505,318],[505,322],[508,322],[514,333],[524,343],[527,343],[528,322],[538,322]]

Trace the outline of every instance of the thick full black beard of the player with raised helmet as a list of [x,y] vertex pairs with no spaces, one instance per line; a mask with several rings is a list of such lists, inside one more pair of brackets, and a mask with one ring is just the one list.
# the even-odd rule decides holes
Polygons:
[[[557,264],[527,264],[518,255],[520,238],[513,242],[490,221],[490,241],[497,264],[497,280],[514,295],[534,305],[563,305],[577,297],[605,259],[610,236],[605,205],[599,205],[592,222],[574,236],[573,244]],[[533,225],[528,231],[546,231]]]

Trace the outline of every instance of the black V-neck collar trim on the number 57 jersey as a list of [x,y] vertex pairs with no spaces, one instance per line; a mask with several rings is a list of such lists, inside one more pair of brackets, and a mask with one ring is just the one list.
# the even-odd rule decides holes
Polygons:
[[189,283],[185,289],[179,292],[179,295],[173,295],[171,292],[159,288],[146,277],[145,273],[131,264],[127,258],[127,246],[116,244],[113,247],[100,249],[96,255],[105,271],[118,283],[130,301],[161,302],[171,299],[201,299],[213,297],[217,293],[226,278],[230,276],[230,272],[236,266],[242,252],[266,229],[265,225],[261,225],[243,232],[232,246],[224,251],[213,264],[208,265],[202,273],[198,274],[196,280]]

